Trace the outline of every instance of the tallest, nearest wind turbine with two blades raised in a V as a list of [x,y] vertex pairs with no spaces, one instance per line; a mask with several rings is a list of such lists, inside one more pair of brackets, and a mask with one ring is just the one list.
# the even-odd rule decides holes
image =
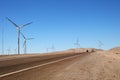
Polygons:
[[27,26],[27,25],[30,25],[32,24],[32,22],[30,23],[27,23],[27,24],[24,24],[24,25],[21,25],[21,26],[18,26],[16,23],[14,23],[11,19],[9,18],[6,18],[8,21],[10,21],[18,30],[18,54],[20,54],[20,32],[21,32],[21,28]]

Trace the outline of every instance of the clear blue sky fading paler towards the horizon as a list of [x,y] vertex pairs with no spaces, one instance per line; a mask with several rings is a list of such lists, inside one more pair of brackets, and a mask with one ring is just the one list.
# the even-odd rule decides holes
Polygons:
[[[76,48],[108,50],[120,45],[120,0],[1,0],[0,53],[4,30],[4,54],[16,53],[17,25],[33,22],[21,29],[27,38],[28,53],[44,53],[54,45],[54,51]],[[21,36],[21,53],[24,39]],[[8,52],[9,50],[9,52]],[[49,49],[49,51],[53,51]]]

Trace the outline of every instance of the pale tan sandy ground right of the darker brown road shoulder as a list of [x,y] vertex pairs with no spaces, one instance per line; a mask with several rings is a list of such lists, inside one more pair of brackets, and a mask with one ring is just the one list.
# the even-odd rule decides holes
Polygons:
[[51,80],[119,80],[120,57],[96,52],[74,62]]

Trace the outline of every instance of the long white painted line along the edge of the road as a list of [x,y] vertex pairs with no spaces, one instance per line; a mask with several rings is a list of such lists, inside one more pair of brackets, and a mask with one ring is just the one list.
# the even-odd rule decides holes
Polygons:
[[67,58],[64,58],[64,59],[57,60],[57,61],[52,61],[52,62],[48,62],[48,63],[45,63],[45,64],[41,64],[41,65],[37,65],[37,66],[21,69],[21,70],[18,70],[18,71],[2,74],[2,75],[0,75],[0,78],[5,77],[5,76],[9,76],[9,75],[12,75],[12,74],[16,74],[16,73],[19,73],[19,72],[27,71],[27,70],[30,70],[30,69],[38,68],[38,67],[41,67],[41,66],[45,66],[45,65],[56,63],[56,62],[60,62],[60,61],[66,60],[66,59],[70,59],[70,58],[76,57],[76,56],[79,56],[79,55],[75,55],[75,56],[67,57]]

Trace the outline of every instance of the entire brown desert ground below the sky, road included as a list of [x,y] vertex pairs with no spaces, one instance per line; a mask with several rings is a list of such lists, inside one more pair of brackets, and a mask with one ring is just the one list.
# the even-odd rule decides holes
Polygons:
[[[94,52],[91,52],[89,50],[90,52],[84,52],[85,50],[70,49],[64,52],[55,52],[53,54],[50,53],[45,55],[41,54],[39,56],[12,56],[15,57],[14,59],[12,57],[1,57],[0,63],[2,64],[0,64],[0,80],[120,79],[120,53],[118,47],[117,50],[116,48],[113,48],[107,51],[96,50]],[[62,60],[57,61],[60,59]],[[11,64],[9,64],[9,61],[14,61],[14,63],[11,62]],[[20,69],[53,61],[57,62],[2,76],[4,74],[18,71]]]

